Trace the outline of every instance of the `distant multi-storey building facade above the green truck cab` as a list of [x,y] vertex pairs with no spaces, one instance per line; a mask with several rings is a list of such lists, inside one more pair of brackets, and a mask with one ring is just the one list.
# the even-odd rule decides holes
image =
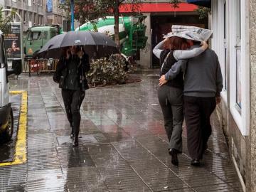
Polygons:
[[4,0],[4,8],[16,9],[23,19],[23,31],[46,23],[46,2],[43,0]]

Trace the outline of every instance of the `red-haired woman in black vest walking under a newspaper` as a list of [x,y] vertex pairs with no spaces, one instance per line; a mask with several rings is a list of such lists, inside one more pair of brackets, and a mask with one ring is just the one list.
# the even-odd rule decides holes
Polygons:
[[[163,49],[164,46],[167,48]],[[161,41],[153,50],[154,55],[160,59],[161,72],[164,75],[177,60],[191,58],[199,55],[207,48],[182,50],[187,48],[185,38],[172,36]],[[159,87],[158,99],[164,115],[164,127],[169,140],[169,154],[171,163],[178,166],[178,155],[182,152],[182,124],[183,124],[183,73],[179,73],[173,80]]]

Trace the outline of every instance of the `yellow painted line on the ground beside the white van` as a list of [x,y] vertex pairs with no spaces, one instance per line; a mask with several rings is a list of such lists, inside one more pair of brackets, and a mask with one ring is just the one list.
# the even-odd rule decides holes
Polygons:
[[15,146],[14,161],[0,164],[9,166],[26,162],[26,129],[28,114],[28,93],[26,91],[11,91],[11,94],[21,94],[21,114],[18,121],[18,133]]

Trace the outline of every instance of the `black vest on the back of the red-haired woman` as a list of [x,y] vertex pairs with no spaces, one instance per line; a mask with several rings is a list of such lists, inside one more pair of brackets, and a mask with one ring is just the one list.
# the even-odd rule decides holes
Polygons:
[[[166,58],[166,56],[169,54],[168,58]],[[160,72],[160,76],[166,74],[172,67],[172,65],[174,65],[174,63],[177,62],[177,60],[174,58],[174,51],[171,50],[171,52],[169,50],[164,50],[161,52],[160,54],[160,63],[164,63],[161,66],[161,72]],[[164,59],[166,58],[166,62],[164,62]],[[176,87],[179,88],[181,90],[183,90],[183,72],[179,73],[176,78],[169,80],[168,82],[166,82],[166,85],[170,86],[170,87]]]

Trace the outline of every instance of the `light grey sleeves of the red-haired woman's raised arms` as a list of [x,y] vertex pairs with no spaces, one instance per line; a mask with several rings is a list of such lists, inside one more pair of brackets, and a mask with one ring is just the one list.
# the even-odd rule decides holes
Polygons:
[[[154,49],[153,53],[156,55],[156,58],[160,58],[161,52],[163,51],[162,47],[164,46],[164,41],[161,41],[158,43]],[[193,48],[191,50],[174,50],[174,58],[176,60],[181,60],[181,59],[188,59],[188,58],[193,58],[201,53],[203,53],[203,48]]]

